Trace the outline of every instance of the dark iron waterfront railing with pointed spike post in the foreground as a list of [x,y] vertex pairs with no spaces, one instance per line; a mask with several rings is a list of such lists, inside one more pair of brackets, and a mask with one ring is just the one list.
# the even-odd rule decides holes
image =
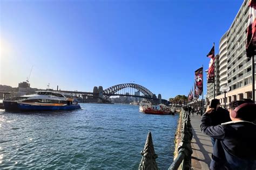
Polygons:
[[[180,116],[182,116],[182,131],[181,131],[181,142],[179,143],[178,147],[178,156],[172,162],[172,165],[169,167],[169,170],[176,170],[176,169],[184,169],[190,170],[191,169],[191,155],[192,155],[192,148],[191,148],[191,140],[193,137],[192,133],[192,126],[190,123],[190,116],[188,115],[188,111],[184,111],[181,109]],[[157,154],[154,152],[154,146],[152,141],[151,132],[147,134],[146,143],[144,146],[142,154],[142,160],[139,164],[139,169],[158,169],[156,158],[158,157]]]

